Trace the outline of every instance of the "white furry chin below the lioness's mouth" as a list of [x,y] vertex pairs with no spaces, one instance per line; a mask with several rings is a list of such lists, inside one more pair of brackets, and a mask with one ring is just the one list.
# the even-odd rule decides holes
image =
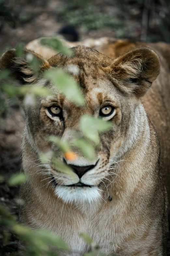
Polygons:
[[100,189],[97,186],[92,187],[70,187],[57,185],[55,195],[65,203],[84,203],[89,204],[99,201],[102,198]]

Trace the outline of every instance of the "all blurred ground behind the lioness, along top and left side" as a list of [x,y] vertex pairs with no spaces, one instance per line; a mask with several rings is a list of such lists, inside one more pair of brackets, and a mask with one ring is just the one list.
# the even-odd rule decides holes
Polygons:
[[[0,55],[19,43],[59,32],[73,41],[107,36],[170,43],[170,1],[0,0]],[[0,203],[18,215],[18,187],[9,186],[7,179],[20,170],[24,118],[17,99],[8,97],[1,88],[0,94]],[[1,255],[17,249],[17,237],[10,233],[4,243],[6,234],[0,226]]]

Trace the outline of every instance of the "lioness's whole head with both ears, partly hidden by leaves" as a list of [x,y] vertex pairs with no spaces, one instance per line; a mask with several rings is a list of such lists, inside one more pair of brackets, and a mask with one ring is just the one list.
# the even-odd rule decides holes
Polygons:
[[[21,79],[18,69],[22,68],[22,83],[34,83],[35,79],[36,83],[44,84],[54,92],[52,96],[39,97],[34,107],[25,105],[23,101],[28,141],[38,158],[42,153],[52,152],[45,168],[46,174],[51,177],[50,184],[59,198],[65,202],[91,202],[102,196],[102,182],[105,184],[106,180],[111,182],[115,179],[113,165],[133,146],[139,136],[140,97],[159,74],[159,59],[148,48],[135,49],[116,60],[85,46],[77,46],[72,50],[72,57],[58,54],[48,62],[33,54],[36,58],[41,58],[42,73],[45,69],[54,67],[65,70],[69,70],[71,66],[77,67],[78,72],[71,75],[79,82],[86,101],[81,107],[42,79],[42,73],[39,77],[31,77],[25,61],[18,60],[20,65],[14,67],[17,58],[13,50],[3,55],[1,68],[15,70],[12,74],[18,80]],[[87,160],[76,149],[74,159],[67,159],[56,145],[47,140],[49,135],[67,142],[74,139],[75,134],[82,136],[79,120],[83,115],[100,116],[112,123],[110,130],[100,134],[101,143],[95,148],[92,161]],[[60,162],[72,168],[71,174],[57,169],[53,163],[55,154]]]

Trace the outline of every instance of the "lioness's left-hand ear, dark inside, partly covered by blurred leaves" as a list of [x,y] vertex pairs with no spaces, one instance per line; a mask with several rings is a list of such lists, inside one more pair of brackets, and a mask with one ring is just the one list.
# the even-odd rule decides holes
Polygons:
[[[33,60],[36,61],[38,66],[37,72],[31,64]],[[10,76],[22,84],[36,82],[40,73],[47,68],[50,68],[48,61],[28,49],[23,51],[22,56],[17,56],[16,50],[10,49],[0,59],[0,69],[8,70]]]

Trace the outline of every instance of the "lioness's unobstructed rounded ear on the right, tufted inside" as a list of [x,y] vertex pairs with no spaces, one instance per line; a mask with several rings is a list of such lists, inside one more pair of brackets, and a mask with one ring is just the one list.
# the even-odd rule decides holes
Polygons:
[[114,60],[111,79],[123,92],[142,97],[160,72],[158,55],[146,47],[135,48]]

